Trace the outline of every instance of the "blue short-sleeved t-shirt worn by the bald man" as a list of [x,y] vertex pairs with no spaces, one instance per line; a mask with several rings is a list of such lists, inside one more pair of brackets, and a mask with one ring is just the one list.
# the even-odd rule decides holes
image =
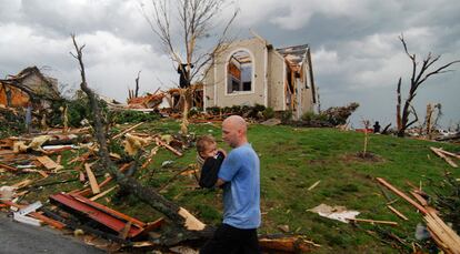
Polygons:
[[249,143],[233,149],[219,171],[223,187],[223,223],[238,228],[260,226],[260,162]]

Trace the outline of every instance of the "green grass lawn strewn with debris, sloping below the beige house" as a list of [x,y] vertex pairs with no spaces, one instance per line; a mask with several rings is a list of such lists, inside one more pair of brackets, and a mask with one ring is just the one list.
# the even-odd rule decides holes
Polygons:
[[[149,133],[174,134],[179,130],[178,122],[158,121],[143,124],[139,130]],[[219,142],[219,146],[228,150],[222,143],[220,125],[192,124],[190,132],[197,135],[210,133]],[[448,151],[459,152],[459,145],[440,144],[427,141],[398,139],[386,135],[370,135],[369,151],[374,160],[356,156],[363,146],[363,134],[341,132],[333,129],[296,129],[291,126],[264,126],[252,124],[249,128],[249,141],[261,161],[261,210],[262,226],[259,233],[280,233],[279,225],[288,225],[291,233],[306,235],[321,244],[317,253],[397,253],[398,250],[380,241],[381,234],[391,232],[408,241],[413,238],[416,225],[422,221],[416,210],[399,199],[393,204],[409,221],[402,221],[387,209],[387,200],[382,195],[374,177],[384,177],[401,191],[410,190],[407,181],[418,185],[422,183],[427,193],[432,193],[429,180],[439,182],[443,179],[449,165],[431,153],[429,146],[443,146]],[[76,156],[66,153],[63,161]],[[182,158],[174,156],[167,150],[160,150],[153,162],[136,175],[143,184],[153,187],[163,186],[177,172],[194,163],[194,149],[189,149]],[[161,167],[163,161],[173,163]],[[72,169],[69,166],[68,169]],[[72,173],[72,172],[69,172]],[[456,177],[460,171],[452,170]],[[73,172],[72,177],[77,177]],[[23,176],[11,176],[3,182],[17,182]],[[57,176],[51,176],[57,177]],[[311,191],[308,187],[321,180]],[[43,187],[27,200],[46,200],[47,195],[58,191],[81,187],[80,182]],[[192,176],[179,176],[170,183],[162,194],[196,214],[209,224],[221,221],[221,191],[200,190],[196,187]],[[390,193],[390,192],[389,192]],[[396,199],[392,193],[390,195]],[[153,221],[160,216],[136,197],[114,202],[113,194],[100,202],[120,210],[143,221]],[[321,203],[343,205],[349,210],[360,211],[358,217],[387,220],[398,222],[399,226],[358,224],[350,225],[318,214],[308,212]],[[372,233],[374,232],[374,233]],[[388,238],[387,238],[388,241]],[[409,248],[403,250],[409,252]]]

